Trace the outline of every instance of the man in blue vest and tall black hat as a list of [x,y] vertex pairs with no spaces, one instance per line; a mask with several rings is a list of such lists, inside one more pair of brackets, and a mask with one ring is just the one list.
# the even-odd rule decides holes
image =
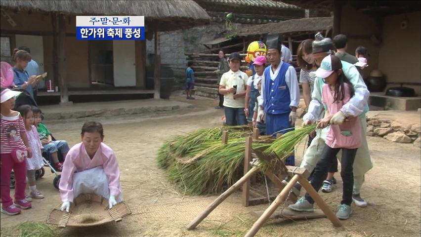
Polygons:
[[[295,68],[281,61],[282,37],[279,34],[268,34],[266,67],[262,78],[261,98],[262,111],[259,118],[266,114],[266,134],[276,136],[294,130],[296,109],[299,103],[299,87]],[[286,165],[295,165],[294,155],[285,161]]]

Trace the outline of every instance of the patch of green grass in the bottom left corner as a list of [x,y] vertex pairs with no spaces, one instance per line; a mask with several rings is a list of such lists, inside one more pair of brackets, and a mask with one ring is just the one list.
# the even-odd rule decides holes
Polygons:
[[1,229],[3,237],[56,237],[58,229],[39,222],[25,221],[15,227]]

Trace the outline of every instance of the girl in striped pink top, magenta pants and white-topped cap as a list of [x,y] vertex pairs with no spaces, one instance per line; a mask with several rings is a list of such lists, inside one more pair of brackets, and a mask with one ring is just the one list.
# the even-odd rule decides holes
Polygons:
[[[25,124],[19,112],[12,110],[15,99],[20,92],[1,87],[1,135],[0,135],[0,196],[1,212],[7,215],[16,215],[20,209],[31,208],[31,203],[25,199],[26,188],[26,158],[32,157],[26,136]],[[20,151],[20,152],[17,152]],[[13,158],[12,153],[15,154]],[[17,155],[19,154],[19,156]],[[10,197],[10,173],[13,169],[16,188],[14,201]]]

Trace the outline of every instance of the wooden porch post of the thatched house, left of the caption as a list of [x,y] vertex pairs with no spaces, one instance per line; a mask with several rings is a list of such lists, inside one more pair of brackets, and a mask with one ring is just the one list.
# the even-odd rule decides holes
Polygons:
[[58,14],[58,82],[60,85],[60,104],[69,103],[66,82],[66,19],[63,14]]

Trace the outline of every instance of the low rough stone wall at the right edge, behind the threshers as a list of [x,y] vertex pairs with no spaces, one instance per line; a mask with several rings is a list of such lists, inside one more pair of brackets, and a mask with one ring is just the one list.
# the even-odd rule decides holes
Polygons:
[[367,136],[379,136],[392,142],[413,143],[421,147],[421,125],[401,124],[392,119],[367,116]]

